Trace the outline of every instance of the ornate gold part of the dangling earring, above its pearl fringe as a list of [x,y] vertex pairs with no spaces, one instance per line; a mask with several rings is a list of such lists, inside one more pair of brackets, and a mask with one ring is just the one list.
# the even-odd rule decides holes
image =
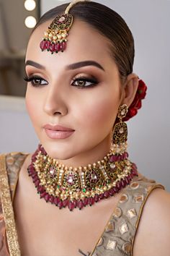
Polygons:
[[117,117],[120,119],[113,129],[112,142],[113,144],[121,145],[128,140],[128,127],[122,119],[128,113],[128,106],[123,104],[119,107]]

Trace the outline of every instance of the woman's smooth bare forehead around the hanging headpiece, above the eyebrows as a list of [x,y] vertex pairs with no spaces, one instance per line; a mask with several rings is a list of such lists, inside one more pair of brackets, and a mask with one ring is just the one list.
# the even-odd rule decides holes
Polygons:
[[73,62],[94,60],[103,65],[115,65],[110,54],[109,40],[86,22],[75,20],[68,32],[66,50],[58,54],[41,51],[40,41],[51,21],[45,22],[32,33],[27,46],[26,60],[37,61],[45,66],[66,65]]

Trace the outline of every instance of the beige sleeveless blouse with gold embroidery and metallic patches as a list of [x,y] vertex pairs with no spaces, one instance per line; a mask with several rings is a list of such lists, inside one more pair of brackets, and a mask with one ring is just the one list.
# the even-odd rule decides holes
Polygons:
[[[0,155],[0,256],[21,255],[14,222],[12,199],[19,171],[27,154]],[[146,177],[135,177],[122,189],[120,200],[90,256],[133,255],[138,223],[148,195],[164,186]]]

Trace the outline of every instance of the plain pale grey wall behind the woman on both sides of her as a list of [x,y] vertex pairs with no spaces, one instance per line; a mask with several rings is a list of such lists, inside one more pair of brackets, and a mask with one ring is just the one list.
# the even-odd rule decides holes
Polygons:
[[[67,1],[42,1],[42,13]],[[135,38],[134,72],[148,85],[143,108],[128,121],[130,159],[170,191],[170,1],[97,1],[118,12]],[[0,98],[0,153],[32,152],[37,138],[22,100]],[[6,106],[7,104],[7,106]],[[6,111],[6,107],[8,110]]]

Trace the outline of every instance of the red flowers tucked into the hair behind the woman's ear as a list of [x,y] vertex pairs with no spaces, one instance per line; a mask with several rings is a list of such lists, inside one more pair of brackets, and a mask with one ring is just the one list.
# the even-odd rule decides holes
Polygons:
[[138,109],[142,106],[142,100],[146,97],[147,86],[143,80],[139,80],[138,90],[135,94],[133,103],[128,108],[128,113],[123,119],[123,121],[128,121],[130,118],[135,116],[138,113]]

